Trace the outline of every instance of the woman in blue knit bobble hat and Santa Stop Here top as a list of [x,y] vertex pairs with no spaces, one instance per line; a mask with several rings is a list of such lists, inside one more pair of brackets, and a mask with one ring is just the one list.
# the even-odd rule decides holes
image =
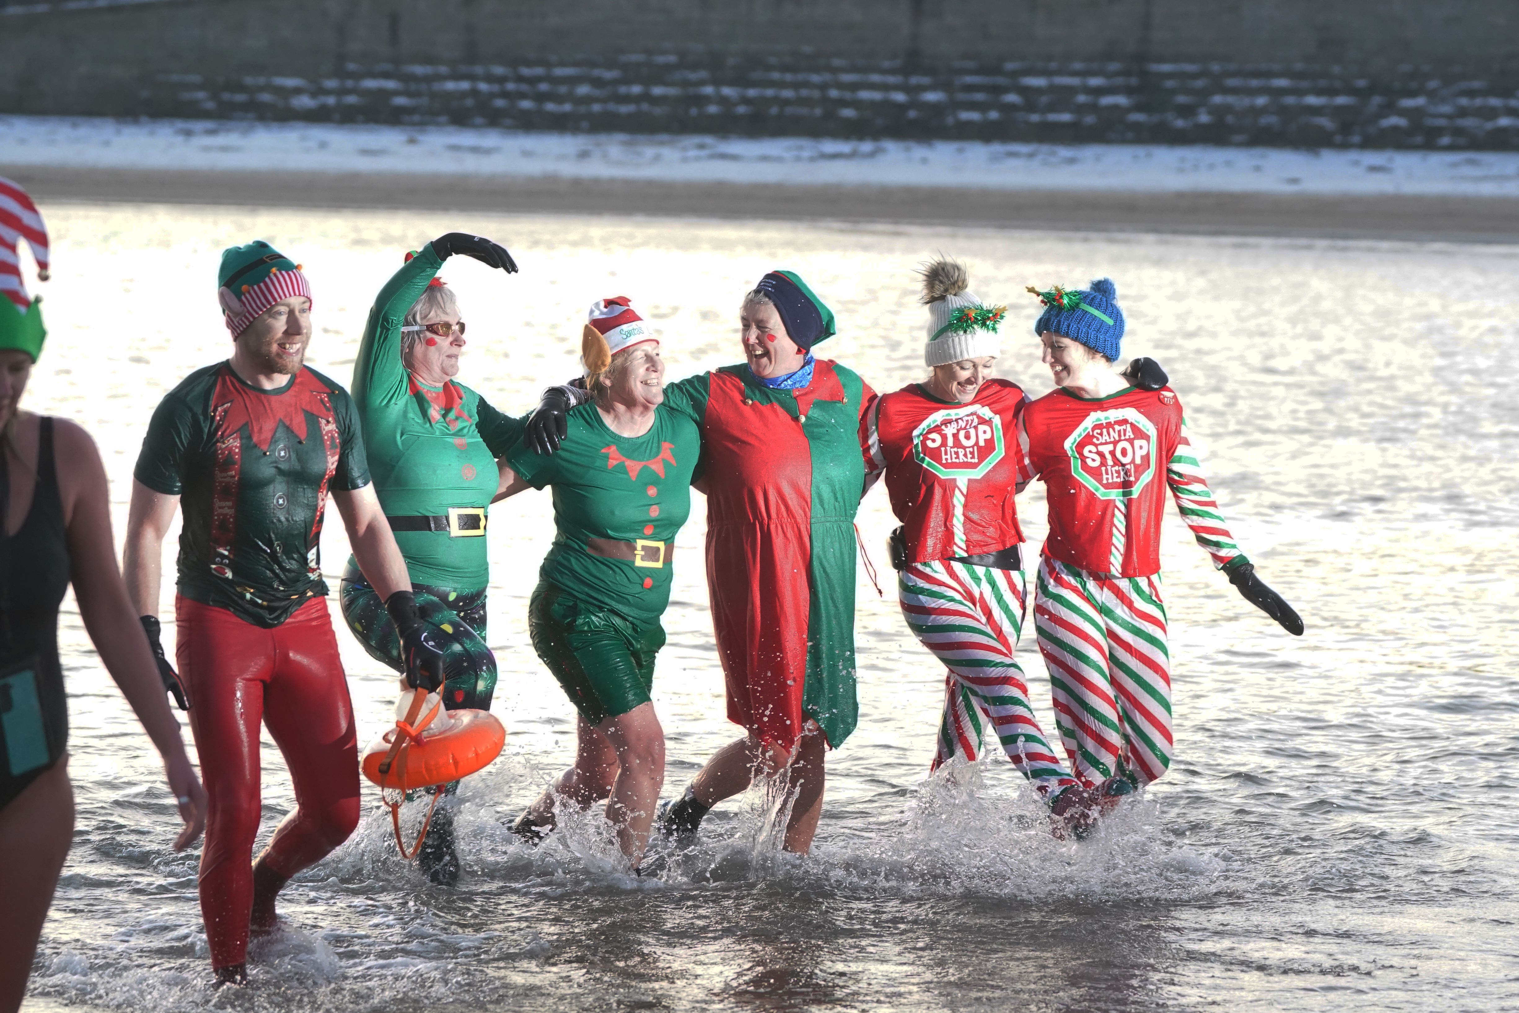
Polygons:
[[[1113,369],[1124,313],[1113,282],[1033,292],[1034,333],[1057,389],[1021,421],[1028,474],[1048,488],[1034,629],[1056,724],[1092,813],[1171,765],[1171,659],[1161,595],[1161,518],[1170,491],[1197,544],[1250,603],[1302,635],[1297,614],[1240,551],[1170,387],[1138,390]],[[1162,483],[1164,471],[1164,483]]]

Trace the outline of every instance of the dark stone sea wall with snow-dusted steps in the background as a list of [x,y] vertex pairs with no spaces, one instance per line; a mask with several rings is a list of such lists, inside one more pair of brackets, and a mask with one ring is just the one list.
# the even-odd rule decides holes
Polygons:
[[11,3],[0,111],[1514,149],[1516,36],[1514,0]]

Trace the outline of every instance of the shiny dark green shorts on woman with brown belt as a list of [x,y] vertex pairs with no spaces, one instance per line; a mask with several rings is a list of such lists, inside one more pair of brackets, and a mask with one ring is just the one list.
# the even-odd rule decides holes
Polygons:
[[541,582],[527,606],[527,632],[538,658],[588,724],[649,703],[655,655],[665,639],[659,623],[638,626]]

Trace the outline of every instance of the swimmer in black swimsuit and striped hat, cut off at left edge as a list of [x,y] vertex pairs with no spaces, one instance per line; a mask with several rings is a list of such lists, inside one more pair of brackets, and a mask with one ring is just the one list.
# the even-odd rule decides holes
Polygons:
[[58,661],[58,606],[70,582],[102,664],[164,759],[184,820],[175,850],[194,843],[207,811],[115,565],[100,453],[74,422],[20,410],[47,331],[41,298],[29,301],[21,282],[17,234],[46,281],[43,219],[18,185],[0,179],[0,1013],[21,1007],[74,831]]

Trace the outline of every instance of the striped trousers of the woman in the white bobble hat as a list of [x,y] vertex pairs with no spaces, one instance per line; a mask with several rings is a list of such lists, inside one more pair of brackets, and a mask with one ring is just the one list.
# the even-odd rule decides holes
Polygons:
[[975,759],[984,715],[1007,758],[1045,797],[1075,784],[1045,740],[1013,659],[1024,626],[1024,574],[940,559],[899,576],[907,624],[948,668],[937,770],[957,752]]

